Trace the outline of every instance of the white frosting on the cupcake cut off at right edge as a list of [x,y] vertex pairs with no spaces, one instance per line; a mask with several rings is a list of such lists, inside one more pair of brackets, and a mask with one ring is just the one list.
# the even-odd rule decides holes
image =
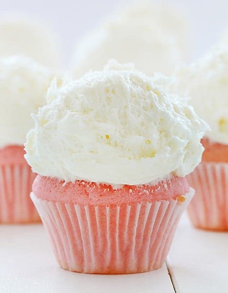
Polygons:
[[206,136],[228,145],[228,43],[220,43],[180,69],[173,87],[180,95],[190,96],[196,113],[209,124]]

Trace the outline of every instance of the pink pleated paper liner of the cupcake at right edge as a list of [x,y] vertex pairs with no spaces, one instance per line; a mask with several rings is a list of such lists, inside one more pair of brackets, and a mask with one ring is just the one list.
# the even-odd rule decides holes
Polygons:
[[201,163],[187,176],[195,189],[188,214],[197,228],[228,230],[228,163]]

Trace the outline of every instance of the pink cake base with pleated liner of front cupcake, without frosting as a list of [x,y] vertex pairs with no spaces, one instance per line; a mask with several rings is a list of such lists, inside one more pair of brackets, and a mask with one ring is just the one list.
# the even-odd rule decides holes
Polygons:
[[63,181],[38,175],[32,200],[57,262],[70,271],[135,273],[159,268],[192,196],[187,180],[156,185]]

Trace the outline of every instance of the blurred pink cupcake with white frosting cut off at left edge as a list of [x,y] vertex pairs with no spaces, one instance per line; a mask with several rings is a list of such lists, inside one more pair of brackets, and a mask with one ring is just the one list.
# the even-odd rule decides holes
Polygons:
[[0,59],[0,223],[39,221],[29,197],[36,174],[24,159],[31,112],[44,105],[54,74],[29,58]]

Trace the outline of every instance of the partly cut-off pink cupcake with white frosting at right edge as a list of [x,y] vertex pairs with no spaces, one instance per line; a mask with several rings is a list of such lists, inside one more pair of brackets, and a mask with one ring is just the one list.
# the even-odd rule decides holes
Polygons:
[[192,224],[228,230],[228,44],[220,43],[178,74],[177,91],[210,126],[202,140],[202,163],[188,176],[195,189],[188,212]]

